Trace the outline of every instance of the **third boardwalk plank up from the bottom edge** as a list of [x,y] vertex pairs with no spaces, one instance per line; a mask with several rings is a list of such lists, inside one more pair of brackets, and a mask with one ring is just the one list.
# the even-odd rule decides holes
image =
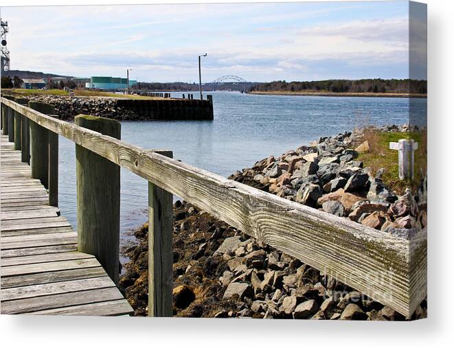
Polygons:
[[[65,294],[82,290],[104,289],[115,287],[109,277],[58,281],[58,283],[20,286],[18,288],[2,289],[1,301],[29,299],[52,294]],[[38,300],[39,301],[39,300]]]

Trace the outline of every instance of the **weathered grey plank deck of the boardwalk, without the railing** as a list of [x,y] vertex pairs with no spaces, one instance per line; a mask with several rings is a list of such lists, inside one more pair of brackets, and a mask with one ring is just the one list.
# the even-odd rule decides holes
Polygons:
[[125,315],[133,312],[77,233],[49,205],[8,135],[1,135],[1,314]]

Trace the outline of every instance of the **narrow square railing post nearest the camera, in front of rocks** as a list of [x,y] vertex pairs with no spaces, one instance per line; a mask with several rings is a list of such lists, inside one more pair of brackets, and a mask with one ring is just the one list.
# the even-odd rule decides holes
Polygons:
[[148,316],[173,314],[172,201],[170,192],[148,183]]

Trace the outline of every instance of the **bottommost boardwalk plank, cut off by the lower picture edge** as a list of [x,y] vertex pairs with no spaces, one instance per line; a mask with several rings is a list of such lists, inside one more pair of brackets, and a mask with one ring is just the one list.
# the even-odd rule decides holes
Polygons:
[[32,314],[54,315],[90,315],[90,316],[122,316],[133,314],[133,308],[126,300],[90,303],[89,305],[73,305],[71,307],[41,310]]

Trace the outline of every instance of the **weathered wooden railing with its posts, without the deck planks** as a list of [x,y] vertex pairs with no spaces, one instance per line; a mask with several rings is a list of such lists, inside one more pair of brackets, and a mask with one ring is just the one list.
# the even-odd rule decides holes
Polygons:
[[[120,213],[116,207],[120,185],[116,176],[110,182],[105,160],[149,182],[150,316],[172,315],[172,194],[405,316],[411,316],[427,294],[425,229],[405,240],[175,161],[170,151],[146,150],[116,139],[119,134],[101,134],[101,127],[96,128],[99,132],[82,127],[95,128],[93,122],[115,121],[80,115],[71,124],[33,109],[37,107],[5,98],[1,102],[8,112],[19,113],[30,125],[36,124],[48,134],[62,135],[76,143],[79,248],[85,251],[84,240],[90,240],[89,252],[98,257],[114,280],[118,279]],[[45,137],[44,132],[37,134]],[[30,135],[33,139],[34,132]],[[36,145],[34,141],[30,143],[33,166]],[[93,161],[88,161],[87,156],[93,156]],[[41,161],[49,161],[47,158],[41,156]],[[85,183],[87,180],[91,183]],[[103,196],[100,187],[95,189],[98,183],[102,189],[109,184],[115,188],[111,190],[115,209],[103,209],[111,196]],[[111,222],[107,222],[107,217]],[[102,224],[96,223],[98,220]],[[90,222],[96,225],[95,229],[90,228]]]

